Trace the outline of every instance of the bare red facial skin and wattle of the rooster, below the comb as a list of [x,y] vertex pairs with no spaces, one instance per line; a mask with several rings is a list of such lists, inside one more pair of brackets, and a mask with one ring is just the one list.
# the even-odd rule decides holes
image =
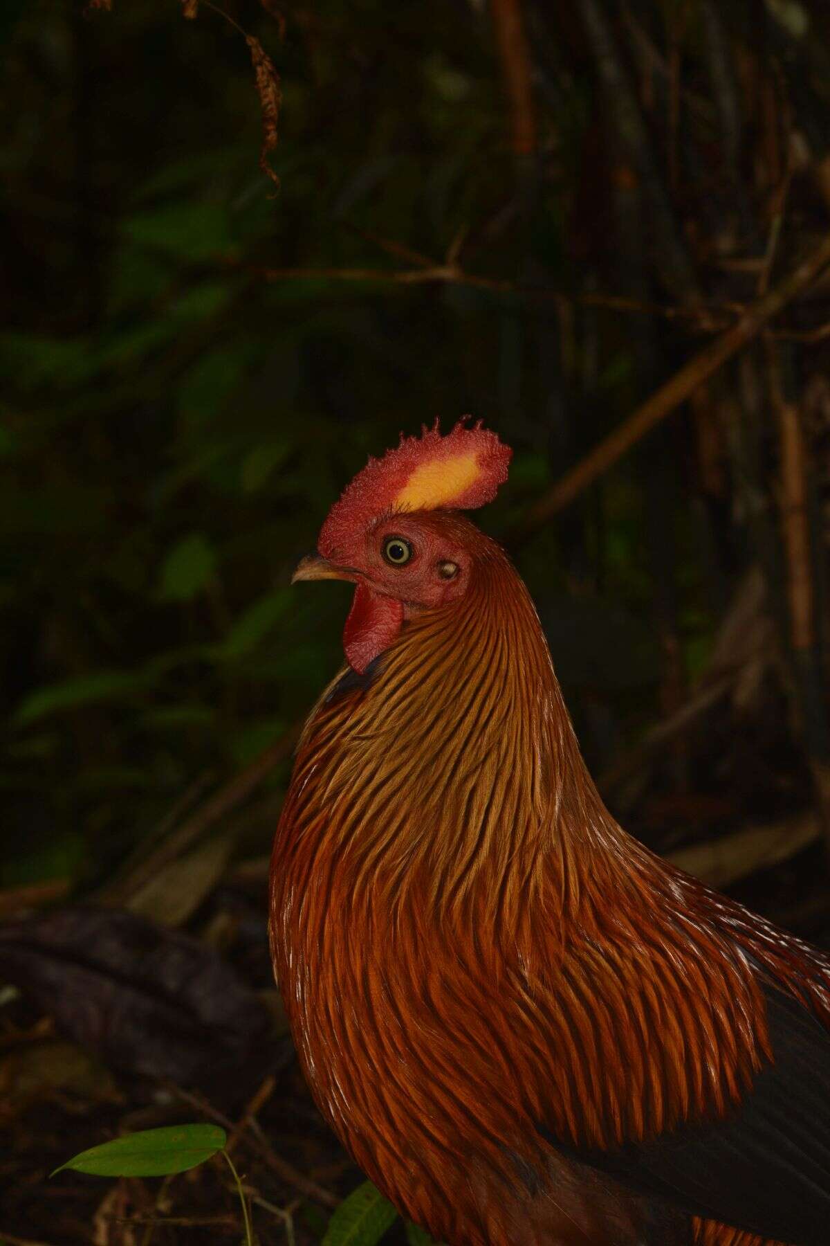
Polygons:
[[[398,513],[370,523],[347,547],[326,549],[342,578],[357,584],[343,629],[343,648],[355,670],[363,674],[407,619],[464,593],[474,559],[469,532],[470,526],[448,511]],[[391,537],[412,547],[403,566],[383,556]]]

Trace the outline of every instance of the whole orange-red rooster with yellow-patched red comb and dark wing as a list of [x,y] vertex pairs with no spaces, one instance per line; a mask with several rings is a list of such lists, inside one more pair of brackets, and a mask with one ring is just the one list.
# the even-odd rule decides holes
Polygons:
[[402,439],[294,577],[356,584],[271,866],[312,1094],[449,1246],[826,1246],[830,961],[605,809],[459,513],[509,459],[480,425]]

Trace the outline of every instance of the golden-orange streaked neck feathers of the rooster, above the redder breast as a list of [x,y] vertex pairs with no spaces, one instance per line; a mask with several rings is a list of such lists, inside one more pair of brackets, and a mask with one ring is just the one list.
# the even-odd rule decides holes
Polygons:
[[284,822],[295,846],[324,835],[348,858],[356,895],[371,878],[393,901],[417,881],[431,905],[453,907],[487,866],[495,917],[528,905],[560,812],[580,806],[584,837],[599,797],[528,591],[494,542],[453,522],[477,548],[467,592],[413,618],[366,690],[327,703],[341,677],[330,685]]

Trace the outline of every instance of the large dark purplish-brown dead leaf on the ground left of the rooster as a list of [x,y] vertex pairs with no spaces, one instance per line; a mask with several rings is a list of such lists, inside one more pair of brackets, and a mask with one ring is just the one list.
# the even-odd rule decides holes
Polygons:
[[0,927],[0,978],[106,1064],[183,1085],[255,1080],[270,1025],[212,948],[133,913],[63,908]]

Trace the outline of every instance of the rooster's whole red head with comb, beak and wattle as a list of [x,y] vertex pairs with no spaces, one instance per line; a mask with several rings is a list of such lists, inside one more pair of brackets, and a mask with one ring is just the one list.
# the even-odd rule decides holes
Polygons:
[[370,459],[335,502],[317,553],[297,579],[347,579],[355,601],[343,647],[363,673],[394,640],[404,621],[460,597],[469,581],[472,526],[457,511],[490,502],[508,478],[513,451],[480,421],[460,420],[442,436],[436,421],[404,437],[383,459]]

